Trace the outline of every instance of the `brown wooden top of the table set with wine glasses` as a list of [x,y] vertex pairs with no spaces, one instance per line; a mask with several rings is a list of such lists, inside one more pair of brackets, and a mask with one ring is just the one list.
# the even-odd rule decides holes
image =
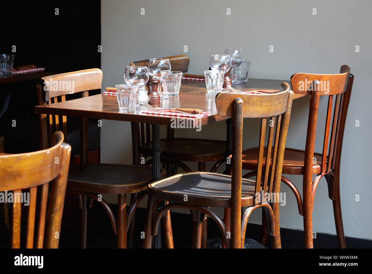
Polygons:
[[[282,82],[288,81],[270,79],[248,79],[248,82],[241,85],[233,85],[233,87],[242,91],[252,91],[254,89],[279,89],[279,86]],[[180,118],[189,120],[190,122],[194,123],[195,120],[198,119],[198,125],[206,125],[228,118],[217,115],[215,96],[216,94],[206,93],[205,81],[192,81],[182,79],[179,96],[170,97],[167,100],[161,100],[159,107],[198,108],[202,109],[203,111],[211,111],[210,116],[201,118],[180,116]],[[294,99],[303,96],[304,95],[295,94]],[[129,113],[120,113],[116,95],[109,94],[98,94],[65,102],[39,105],[35,107],[35,112],[61,116],[87,117],[93,119],[152,123],[160,125],[171,125],[171,123],[174,121],[174,119],[172,119],[174,118],[174,116],[146,114],[141,113],[141,110],[136,110]]]

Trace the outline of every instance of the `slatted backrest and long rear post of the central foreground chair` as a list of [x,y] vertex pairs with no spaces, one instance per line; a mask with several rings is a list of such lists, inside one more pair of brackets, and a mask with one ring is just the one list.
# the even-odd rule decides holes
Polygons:
[[[241,162],[243,141],[243,118],[261,118],[259,152],[257,155],[257,176],[255,196],[280,192],[283,155],[287,137],[289,117],[291,115],[293,91],[287,83],[282,83],[279,92],[275,94],[236,94],[219,93],[216,96],[217,113],[220,116],[232,117],[232,176],[231,176],[231,227],[237,229],[238,239],[231,239],[232,248],[240,248],[241,228]],[[265,165],[263,171],[264,142],[266,122],[269,121],[266,159],[272,158],[272,167]],[[275,124],[275,128],[274,128]],[[274,133],[275,130],[275,133]],[[273,147],[273,148],[272,148]],[[271,157],[272,155],[272,157]],[[268,163],[269,160],[266,160]],[[262,178],[264,174],[264,178]],[[261,186],[261,182],[263,185]],[[271,195],[269,195],[270,197]],[[255,204],[260,201],[255,199]]]

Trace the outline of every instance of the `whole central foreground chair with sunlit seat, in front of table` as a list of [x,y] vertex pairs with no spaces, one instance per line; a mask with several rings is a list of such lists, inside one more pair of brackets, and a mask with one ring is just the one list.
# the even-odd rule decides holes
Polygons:
[[[172,208],[187,208],[201,212],[193,216],[194,248],[201,247],[198,235],[205,215],[209,215],[217,222],[227,248],[243,248],[248,218],[252,211],[263,208],[268,216],[267,229],[273,236],[273,247],[280,248],[279,200],[273,196],[280,192],[280,176],[292,99],[293,92],[287,83],[282,83],[279,92],[275,94],[248,95],[222,92],[216,96],[218,115],[232,117],[232,174],[230,176],[211,172],[189,172],[149,184],[145,248],[151,247],[152,237],[157,234],[161,216]],[[263,183],[261,176],[257,176],[256,181],[241,177],[243,118],[261,118],[259,152],[256,157],[257,170],[263,170]],[[272,155],[274,162],[271,169],[262,165],[267,119],[276,122],[276,129],[274,126],[269,127],[267,137],[270,147],[268,155]],[[272,144],[274,147],[271,149]],[[171,203],[155,214],[155,208],[160,200]],[[227,230],[221,218],[208,207],[230,207],[231,230]],[[248,208],[241,220],[242,207]]]

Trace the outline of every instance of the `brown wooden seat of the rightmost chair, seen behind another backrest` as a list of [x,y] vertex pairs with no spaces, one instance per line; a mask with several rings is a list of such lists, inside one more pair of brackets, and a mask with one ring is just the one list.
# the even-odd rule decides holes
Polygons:
[[[257,169],[257,155],[258,155],[258,147],[243,150],[242,169],[256,170]],[[263,167],[264,167],[266,164],[266,147],[264,148],[263,155],[264,155],[263,156]],[[316,158],[316,164],[312,165],[312,173],[318,174],[321,172],[320,165],[322,161],[322,155],[319,153],[314,153],[314,157]],[[282,174],[294,174],[294,175],[304,174],[304,159],[305,159],[304,150],[299,150],[299,149],[294,149],[294,148],[285,148]],[[270,161],[270,167],[271,167],[271,161]],[[262,170],[264,170],[264,168]]]

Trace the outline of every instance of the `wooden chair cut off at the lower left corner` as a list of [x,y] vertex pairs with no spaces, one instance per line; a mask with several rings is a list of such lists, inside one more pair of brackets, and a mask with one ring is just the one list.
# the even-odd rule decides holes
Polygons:
[[[71,146],[63,142],[62,132],[56,132],[51,148],[0,155],[0,192],[9,191],[13,195],[12,248],[20,248],[22,203],[29,203],[25,247],[33,248],[36,238],[36,248],[58,248],[70,153]],[[48,202],[49,182],[52,183]],[[38,220],[36,236],[35,219]]]

